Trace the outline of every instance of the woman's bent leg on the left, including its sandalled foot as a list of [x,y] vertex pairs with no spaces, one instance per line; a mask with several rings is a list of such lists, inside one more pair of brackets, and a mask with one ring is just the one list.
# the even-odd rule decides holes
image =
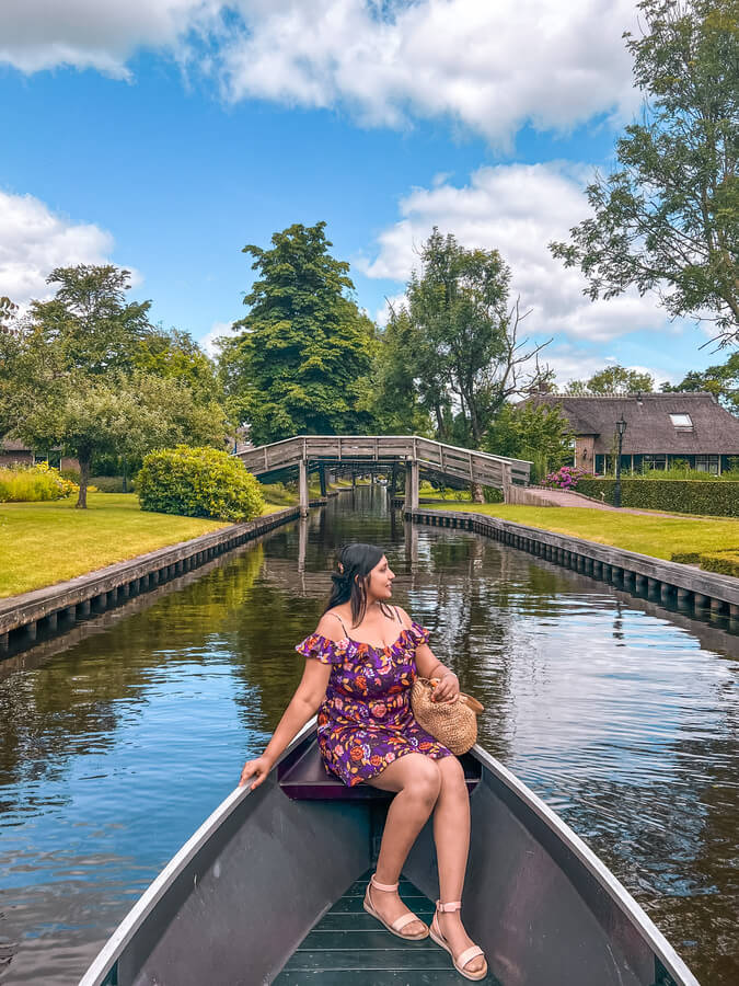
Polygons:
[[[396,792],[388,809],[376,879],[379,883],[397,883],[411,847],[434,811],[441,787],[441,775],[430,757],[407,754],[367,783],[382,791]],[[370,897],[378,913],[389,924],[408,910],[397,893],[370,887]],[[401,933],[418,935],[424,927],[422,921],[412,921]]]

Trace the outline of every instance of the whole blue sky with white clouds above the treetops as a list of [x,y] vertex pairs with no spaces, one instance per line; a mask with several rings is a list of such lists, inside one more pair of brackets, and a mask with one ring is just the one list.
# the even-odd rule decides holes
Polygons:
[[557,382],[657,386],[723,360],[654,296],[591,302],[549,250],[639,112],[631,0],[3,0],[0,295],[114,263],[152,318],[213,340],[242,252],[327,223],[382,323],[434,226],[498,249]]

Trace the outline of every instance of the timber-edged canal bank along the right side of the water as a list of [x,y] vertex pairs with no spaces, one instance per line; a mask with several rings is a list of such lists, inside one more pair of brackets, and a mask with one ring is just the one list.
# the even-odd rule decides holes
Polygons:
[[696,617],[725,617],[731,629],[739,632],[739,580],[730,575],[484,514],[419,507],[406,511],[404,516],[414,524],[475,531],[592,578],[611,582],[636,596],[659,599],[665,605],[673,603]]

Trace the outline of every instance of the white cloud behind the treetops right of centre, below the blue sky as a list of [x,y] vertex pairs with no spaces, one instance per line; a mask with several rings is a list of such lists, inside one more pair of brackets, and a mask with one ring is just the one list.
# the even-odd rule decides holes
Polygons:
[[[590,301],[576,270],[565,270],[547,250],[566,240],[588,215],[582,165],[549,162],[481,168],[467,185],[415,188],[401,200],[401,219],[378,238],[373,260],[357,265],[369,277],[406,280],[419,266],[418,250],[434,226],[453,232],[466,248],[497,248],[513,273],[511,295],[521,296],[528,335],[566,335],[604,342],[638,330],[662,330],[665,312],[650,296],[628,293]],[[581,374],[578,374],[581,376]]]

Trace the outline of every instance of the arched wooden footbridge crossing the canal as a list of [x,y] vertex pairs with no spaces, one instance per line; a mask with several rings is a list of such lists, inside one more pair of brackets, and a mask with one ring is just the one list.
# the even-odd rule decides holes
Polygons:
[[262,479],[286,469],[298,469],[300,509],[308,513],[308,475],[316,469],[330,467],[337,471],[347,468],[396,474],[405,468],[405,502],[413,509],[418,506],[420,471],[435,477],[448,477],[457,482],[481,483],[501,490],[506,500],[512,485],[527,485],[531,462],[492,456],[419,438],[416,435],[299,435],[236,452],[244,466]]

